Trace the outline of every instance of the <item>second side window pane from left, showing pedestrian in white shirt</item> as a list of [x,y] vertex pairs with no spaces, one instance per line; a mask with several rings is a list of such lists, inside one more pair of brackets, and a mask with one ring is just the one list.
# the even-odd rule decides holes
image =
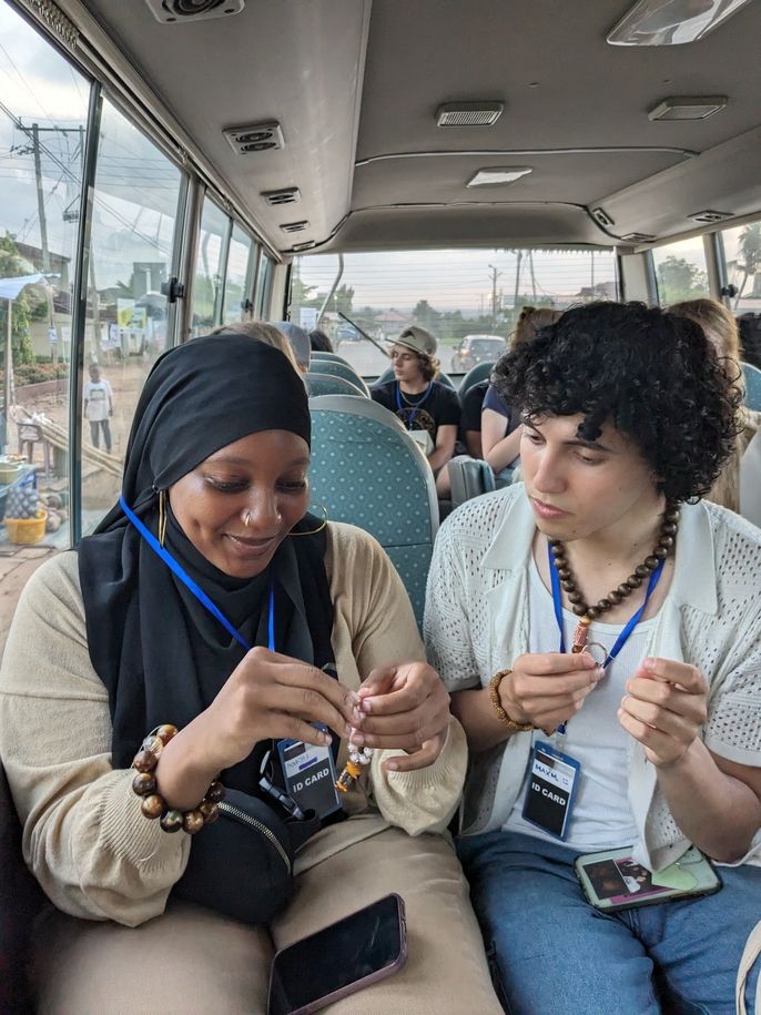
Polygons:
[[168,347],[166,300],[183,175],[103,100],[84,334],[82,532],[121,487],[145,377]]

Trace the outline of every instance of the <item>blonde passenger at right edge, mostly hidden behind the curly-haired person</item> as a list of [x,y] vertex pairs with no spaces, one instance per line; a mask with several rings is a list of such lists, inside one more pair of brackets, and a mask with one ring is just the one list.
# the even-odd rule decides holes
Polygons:
[[[713,345],[720,358],[731,361],[728,373],[737,384],[744,388],[742,367],[740,366],[740,332],[731,312],[717,300],[687,300],[669,307],[671,314],[689,317],[703,329],[706,337]],[[740,514],[740,459],[745,454],[757,432],[761,427],[761,413],[747,406],[739,409],[740,432],[737,437],[734,454],[727,460],[717,481],[707,494],[706,499],[720,504]],[[758,441],[757,441],[758,444]],[[755,445],[754,445],[755,447]]]

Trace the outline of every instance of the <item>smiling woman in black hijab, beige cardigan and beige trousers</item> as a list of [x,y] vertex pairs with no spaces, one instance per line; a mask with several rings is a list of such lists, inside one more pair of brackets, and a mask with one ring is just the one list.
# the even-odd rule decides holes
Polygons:
[[[44,1011],[263,1011],[274,946],[389,891],[414,955],[343,1011],[454,1011],[457,996],[499,1011],[450,847],[419,835],[454,812],[463,733],[380,548],[306,514],[310,437],[277,349],[223,335],[171,351],[140,398],[120,504],[24,589],[0,752],[24,857],[62,911],[40,937]],[[324,747],[315,722],[342,740],[338,771],[349,729],[355,751],[379,749],[342,800],[349,820],[322,830],[273,800],[266,758],[282,738]],[[179,732],[150,741],[141,801],[130,765],[166,723]],[[220,773],[244,820],[191,836]],[[155,799],[165,826],[190,824],[148,820]],[[306,840],[290,901],[252,815],[281,854]]]

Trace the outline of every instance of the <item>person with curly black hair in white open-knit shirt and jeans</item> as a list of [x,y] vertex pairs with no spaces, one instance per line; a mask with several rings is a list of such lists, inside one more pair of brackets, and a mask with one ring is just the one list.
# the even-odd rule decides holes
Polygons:
[[[692,321],[613,303],[497,383],[525,483],[444,522],[425,628],[473,754],[459,853],[506,1008],[730,1015],[761,912],[761,534],[700,498],[741,392]],[[691,844],[727,864],[714,895],[603,915],[575,876]]]

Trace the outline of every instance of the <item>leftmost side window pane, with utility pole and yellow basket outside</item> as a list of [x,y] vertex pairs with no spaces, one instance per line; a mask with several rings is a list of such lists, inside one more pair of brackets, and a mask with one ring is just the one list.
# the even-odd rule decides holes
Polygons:
[[[0,3],[0,40],[4,639],[16,598],[34,564],[45,550],[70,541],[71,286],[90,82],[6,3]],[[38,511],[47,511],[47,518]]]

